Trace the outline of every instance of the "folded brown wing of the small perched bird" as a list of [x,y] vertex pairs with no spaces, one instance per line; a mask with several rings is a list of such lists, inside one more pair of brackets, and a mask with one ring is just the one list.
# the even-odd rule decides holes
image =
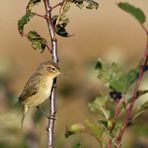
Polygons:
[[27,98],[35,95],[38,92],[38,76],[33,75],[25,85],[25,88],[20,95],[19,102],[23,102]]

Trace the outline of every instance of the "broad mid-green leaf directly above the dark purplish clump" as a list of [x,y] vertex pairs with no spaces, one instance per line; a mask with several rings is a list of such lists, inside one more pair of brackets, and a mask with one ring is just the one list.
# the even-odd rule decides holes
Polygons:
[[131,69],[128,72],[124,72],[117,79],[110,81],[110,87],[121,93],[126,93],[129,87],[137,80],[139,73],[139,66],[135,69]]

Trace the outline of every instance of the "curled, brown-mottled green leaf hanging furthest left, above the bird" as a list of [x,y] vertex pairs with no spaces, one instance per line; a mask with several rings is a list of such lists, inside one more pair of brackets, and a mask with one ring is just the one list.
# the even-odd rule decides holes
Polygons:
[[30,19],[34,16],[33,13],[27,12],[22,18],[18,21],[18,30],[21,36],[23,36],[24,26],[30,21]]

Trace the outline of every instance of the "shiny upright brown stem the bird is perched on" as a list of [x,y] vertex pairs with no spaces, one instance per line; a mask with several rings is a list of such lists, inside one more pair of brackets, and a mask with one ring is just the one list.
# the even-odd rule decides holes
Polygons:
[[[55,63],[58,63],[58,55],[57,55],[57,39],[55,37],[55,30],[52,23],[51,9],[49,0],[43,0],[46,12],[46,20],[48,25],[48,30],[51,38],[51,53],[52,59]],[[55,115],[56,115],[56,79],[54,79],[51,96],[50,96],[50,106],[49,106],[49,121],[48,121],[48,148],[54,147],[54,127],[55,127]]]

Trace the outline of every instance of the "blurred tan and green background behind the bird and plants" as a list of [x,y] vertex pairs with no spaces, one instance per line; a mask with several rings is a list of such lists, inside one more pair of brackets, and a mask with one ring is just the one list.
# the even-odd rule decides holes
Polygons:
[[[65,77],[58,79],[56,148],[70,148],[81,142],[85,147],[95,148],[97,142],[88,135],[64,138],[65,127],[75,122],[94,118],[88,109],[102,89],[94,71],[95,62],[102,58],[108,63],[117,62],[129,68],[135,66],[143,56],[146,35],[138,22],[120,10],[117,0],[100,0],[98,10],[80,10],[72,5],[68,16],[68,31],[73,37],[58,36],[58,54]],[[129,0],[140,7],[148,17],[148,1]],[[17,21],[25,13],[26,0],[0,1],[0,147],[43,148],[47,143],[47,119],[32,109],[20,130],[21,108],[17,97],[24,84],[42,61],[51,59],[48,51],[40,54],[17,30]],[[54,1],[53,3],[56,3]],[[43,13],[43,5],[35,9]],[[57,12],[57,11],[55,11]],[[148,28],[148,23],[145,26]],[[49,39],[46,22],[33,18],[25,31],[36,30]],[[145,79],[147,80],[147,79]],[[143,88],[147,88],[144,81]],[[148,96],[144,96],[144,99]],[[42,108],[48,113],[46,101]],[[125,147],[148,147],[148,115],[145,113],[137,125],[128,129],[123,139]],[[139,126],[140,125],[140,126]],[[88,139],[88,140],[87,140]]]

